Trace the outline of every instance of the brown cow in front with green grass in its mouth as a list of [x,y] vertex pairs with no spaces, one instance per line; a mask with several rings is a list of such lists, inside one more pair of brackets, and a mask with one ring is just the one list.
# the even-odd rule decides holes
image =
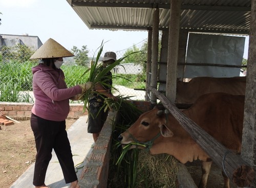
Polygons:
[[[153,145],[149,150],[153,155],[167,153],[181,163],[201,160],[202,177],[199,187],[206,187],[212,163],[210,157],[180,126],[172,114],[166,116],[160,114],[160,110],[162,111],[159,107],[155,107],[140,115],[129,129],[119,135],[121,144],[127,145],[132,142],[150,144],[149,141],[152,140]],[[238,153],[241,151],[244,96],[209,93],[201,96],[193,106],[182,112],[226,148]],[[157,136],[160,130],[161,134]],[[224,187],[229,188],[228,177],[224,173],[222,175]]]

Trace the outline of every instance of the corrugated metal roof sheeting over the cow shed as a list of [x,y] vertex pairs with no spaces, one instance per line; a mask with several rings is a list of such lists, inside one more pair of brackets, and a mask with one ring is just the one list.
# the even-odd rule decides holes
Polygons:
[[[159,30],[167,29],[170,0],[67,0],[89,29],[147,30],[159,8]],[[249,34],[251,0],[181,0],[180,29]]]

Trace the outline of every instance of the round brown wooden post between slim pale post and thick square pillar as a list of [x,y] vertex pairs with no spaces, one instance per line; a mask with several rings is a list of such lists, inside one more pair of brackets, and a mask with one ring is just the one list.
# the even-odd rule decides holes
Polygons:
[[[157,65],[158,65],[158,37],[159,37],[159,9],[156,9],[153,15],[153,39],[152,39],[152,65],[151,65],[151,87],[157,88]],[[150,93],[152,104],[157,103],[157,98]]]

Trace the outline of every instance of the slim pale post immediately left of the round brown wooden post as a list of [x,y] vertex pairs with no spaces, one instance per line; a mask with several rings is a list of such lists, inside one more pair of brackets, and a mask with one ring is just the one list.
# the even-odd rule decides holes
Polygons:
[[150,86],[151,81],[151,59],[152,59],[152,29],[148,30],[147,33],[147,61],[146,61],[146,93],[145,100],[150,101],[150,90],[148,90],[148,86]]

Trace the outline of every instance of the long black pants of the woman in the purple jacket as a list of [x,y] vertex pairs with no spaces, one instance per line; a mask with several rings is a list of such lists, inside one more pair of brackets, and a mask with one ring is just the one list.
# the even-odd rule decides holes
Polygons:
[[49,121],[32,114],[30,123],[37,151],[33,184],[40,186],[45,183],[46,171],[52,158],[52,149],[59,160],[66,183],[76,181],[66,121]]

